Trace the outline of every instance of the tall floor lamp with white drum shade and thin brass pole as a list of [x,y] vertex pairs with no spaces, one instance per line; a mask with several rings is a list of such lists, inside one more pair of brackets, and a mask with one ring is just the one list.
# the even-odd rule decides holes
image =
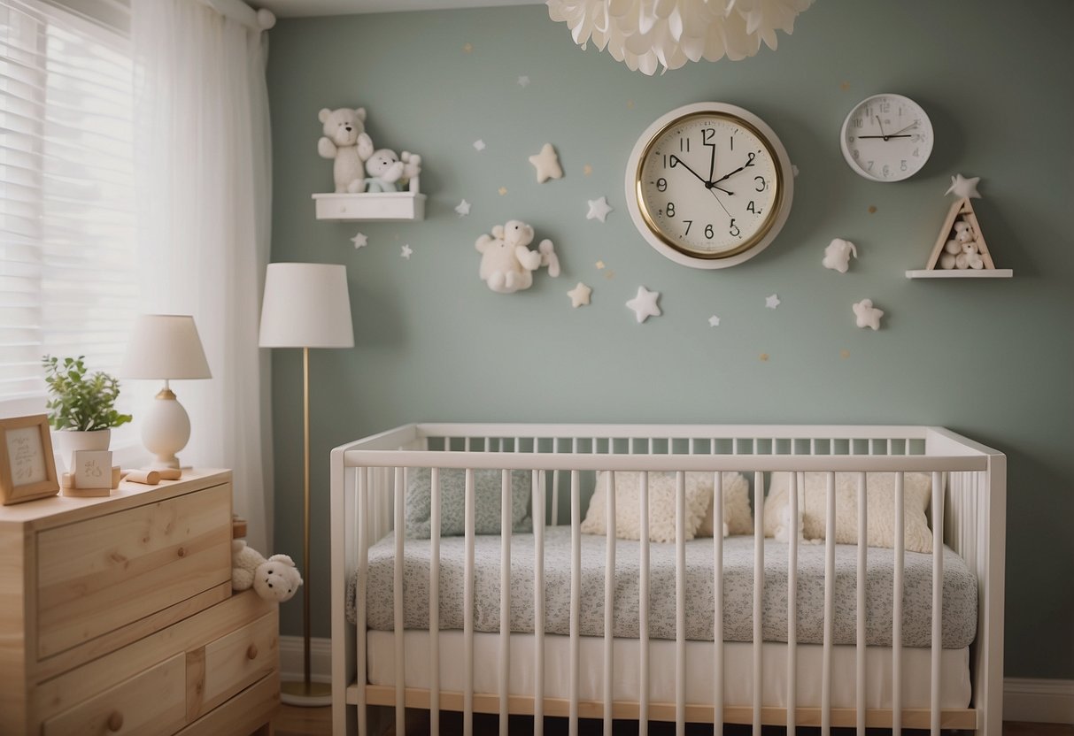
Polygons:
[[[309,678],[309,349],[353,348],[347,267],[321,263],[272,263],[265,273],[261,305],[262,348],[302,348],[303,394],[303,546],[302,620],[303,679],[285,681],[281,700],[288,705],[332,703],[332,687]],[[326,458],[325,458],[326,459]]]

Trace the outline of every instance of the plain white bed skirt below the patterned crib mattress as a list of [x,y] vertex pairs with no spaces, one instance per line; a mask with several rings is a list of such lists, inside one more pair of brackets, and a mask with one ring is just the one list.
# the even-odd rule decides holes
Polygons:
[[[440,690],[462,692],[465,689],[463,661],[464,641],[461,631],[444,631],[440,638]],[[367,675],[371,685],[395,685],[395,635],[390,631],[368,632]],[[429,632],[407,631],[405,680],[407,688],[429,689]],[[511,634],[510,680],[512,695],[533,695],[534,692],[534,635]],[[640,700],[637,639],[614,639],[613,685],[615,701]],[[712,704],[712,642],[686,643],[686,703]],[[766,642],[761,645],[761,669],[766,706],[785,707],[787,703],[787,646]],[[824,647],[803,644],[798,650],[797,706],[819,707],[822,661]],[[853,646],[833,646],[831,659],[831,707],[856,707],[856,650]],[[649,700],[651,703],[673,703],[676,673],[676,643],[650,642]],[[891,654],[886,647],[866,649],[866,707],[891,707]],[[931,650],[904,648],[902,650],[902,707],[929,708]],[[581,701],[604,698],[604,639],[580,638],[580,671],[578,696]],[[942,708],[966,708],[970,704],[970,650],[944,649],[941,656]],[[753,705],[753,644],[727,642],[724,644],[724,705]],[[474,634],[474,691],[498,693],[499,634]],[[570,637],[545,636],[545,696],[570,696]]]

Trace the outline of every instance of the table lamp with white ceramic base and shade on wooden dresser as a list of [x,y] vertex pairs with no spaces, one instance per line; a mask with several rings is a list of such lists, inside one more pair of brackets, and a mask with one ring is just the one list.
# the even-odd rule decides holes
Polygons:
[[154,454],[154,468],[178,468],[175,454],[190,440],[190,417],[170,382],[213,378],[194,319],[189,314],[140,314],[119,376],[164,381],[142,419],[142,444]]

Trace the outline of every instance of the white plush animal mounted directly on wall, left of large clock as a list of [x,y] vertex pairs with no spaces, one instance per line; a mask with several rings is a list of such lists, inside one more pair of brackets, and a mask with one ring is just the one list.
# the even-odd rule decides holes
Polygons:
[[549,276],[560,275],[560,261],[552,241],[540,241],[537,250],[527,246],[534,240],[534,229],[520,220],[496,225],[492,235],[482,235],[475,247],[481,253],[481,280],[500,294],[513,294],[533,285],[533,271],[548,266]]

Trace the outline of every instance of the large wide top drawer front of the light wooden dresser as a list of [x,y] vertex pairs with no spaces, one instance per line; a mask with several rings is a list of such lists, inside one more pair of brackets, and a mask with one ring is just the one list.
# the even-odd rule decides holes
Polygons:
[[231,485],[42,531],[37,576],[39,659],[227,583]]

